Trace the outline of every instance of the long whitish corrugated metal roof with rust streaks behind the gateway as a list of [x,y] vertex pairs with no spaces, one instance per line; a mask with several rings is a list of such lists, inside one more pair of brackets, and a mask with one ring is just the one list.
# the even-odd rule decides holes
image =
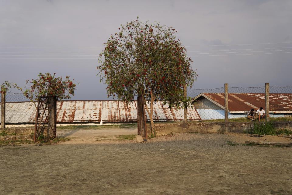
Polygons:
[[[6,103],[7,123],[33,122],[36,108],[33,102]],[[148,105],[150,106],[150,105]],[[145,111],[146,112],[146,111]],[[149,116],[146,112],[147,118]],[[153,109],[154,121],[183,120],[183,109],[169,109],[158,101]],[[195,108],[188,108],[189,120],[200,120]],[[57,101],[57,122],[134,122],[137,121],[137,101]]]

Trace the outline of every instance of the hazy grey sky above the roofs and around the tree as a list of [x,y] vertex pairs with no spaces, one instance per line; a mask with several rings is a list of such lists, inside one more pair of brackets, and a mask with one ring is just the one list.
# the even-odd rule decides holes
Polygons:
[[290,0],[0,0],[0,83],[56,73],[78,81],[73,100],[106,100],[98,54],[137,16],[178,31],[199,75],[193,88],[292,86]]

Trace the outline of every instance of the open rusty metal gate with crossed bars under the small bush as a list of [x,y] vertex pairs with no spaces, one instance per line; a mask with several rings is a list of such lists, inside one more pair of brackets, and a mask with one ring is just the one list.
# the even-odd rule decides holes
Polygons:
[[57,98],[39,97],[33,141],[57,137]]

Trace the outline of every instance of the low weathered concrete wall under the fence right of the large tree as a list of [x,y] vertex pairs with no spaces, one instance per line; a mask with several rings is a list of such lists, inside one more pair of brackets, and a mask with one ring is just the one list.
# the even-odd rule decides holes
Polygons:
[[[224,133],[226,131],[235,133],[244,133],[251,128],[254,122],[229,122],[229,126],[225,127],[224,122],[156,122],[156,136],[167,135],[171,133]],[[273,122],[276,129],[292,130],[292,121],[276,121]],[[147,135],[151,136],[150,123],[146,124]]]

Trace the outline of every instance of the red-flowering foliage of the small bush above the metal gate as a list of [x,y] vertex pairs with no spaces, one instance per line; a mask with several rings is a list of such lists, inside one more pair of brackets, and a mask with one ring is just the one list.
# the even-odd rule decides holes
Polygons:
[[5,81],[1,85],[1,93],[6,93],[9,88],[13,87],[20,90],[31,101],[36,101],[40,96],[53,96],[60,100],[70,99],[70,95],[74,96],[76,84],[70,80],[69,76],[66,76],[66,79],[63,80],[62,77],[56,77],[55,73],[53,75],[50,73],[39,73],[38,77],[37,79],[26,81],[26,85],[31,83],[29,89],[26,89],[26,86],[23,89],[16,83]]

